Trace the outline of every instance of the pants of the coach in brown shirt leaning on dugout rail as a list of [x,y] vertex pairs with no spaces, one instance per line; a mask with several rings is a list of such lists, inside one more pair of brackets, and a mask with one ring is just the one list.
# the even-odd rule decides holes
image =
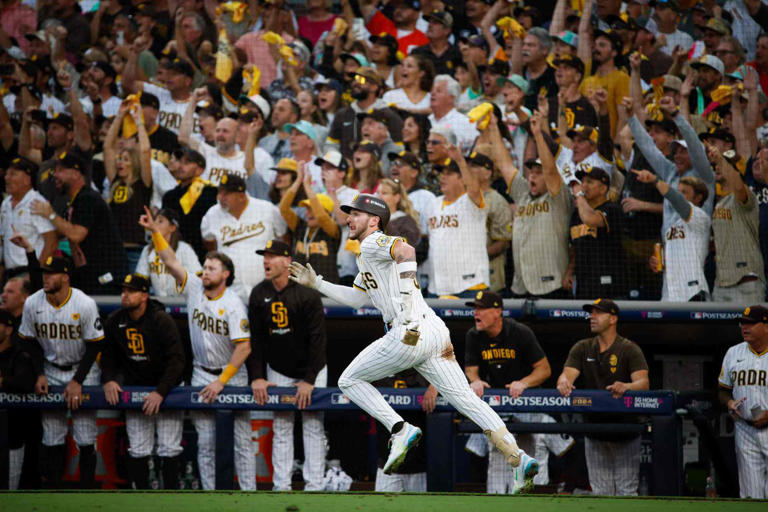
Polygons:
[[584,439],[592,494],[637,496],[640,484],[640,436],[629,441]]

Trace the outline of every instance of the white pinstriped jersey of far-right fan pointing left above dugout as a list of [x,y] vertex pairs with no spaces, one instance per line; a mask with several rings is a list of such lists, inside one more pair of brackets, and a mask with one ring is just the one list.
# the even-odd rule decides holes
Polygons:
[[691,216],[675,212],[664,233],[664,286],[661,300],[687,302],[703,291],[709,293],[704,262],[709,252],[712,220],[707,212],[691,204]]

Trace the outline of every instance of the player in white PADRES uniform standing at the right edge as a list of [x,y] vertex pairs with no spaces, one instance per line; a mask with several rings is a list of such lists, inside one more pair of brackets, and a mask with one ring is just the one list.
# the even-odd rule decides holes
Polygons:
[[718,384],[734,419],[739,494],[768,498],[768,309],[750,306],[739,318],[742,343],[728,349]]

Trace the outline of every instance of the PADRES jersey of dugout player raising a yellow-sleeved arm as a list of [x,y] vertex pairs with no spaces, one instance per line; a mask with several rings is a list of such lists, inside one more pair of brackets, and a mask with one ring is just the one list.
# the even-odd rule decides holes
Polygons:
[[234,343],[251,339],[245,304],[229,288],[209,299],[203,293],[203,281],[190,272],[186,273],[179,292],[187,298],[194,364],[224,368],[235,350]]

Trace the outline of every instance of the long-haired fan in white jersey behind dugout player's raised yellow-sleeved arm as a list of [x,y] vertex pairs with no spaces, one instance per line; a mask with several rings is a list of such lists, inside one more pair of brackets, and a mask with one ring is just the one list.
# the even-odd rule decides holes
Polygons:
[[[195,250],[186,242],[182,242],[179,232],[179,215],[175,210],[165,208],[155,214],[155,224],[163,235],[165,241],[176,253],[181,265],[188,272],[197,274],[203,269],[200,260],[197,259]],[[147,244],[141,251],[139,262],[136,265],[136,273],[149,279],[152,283],[152,293],[155,297],[179,297],[176,289],[176,280],[168,272],[165,264],[155,251],[153,244]]]

